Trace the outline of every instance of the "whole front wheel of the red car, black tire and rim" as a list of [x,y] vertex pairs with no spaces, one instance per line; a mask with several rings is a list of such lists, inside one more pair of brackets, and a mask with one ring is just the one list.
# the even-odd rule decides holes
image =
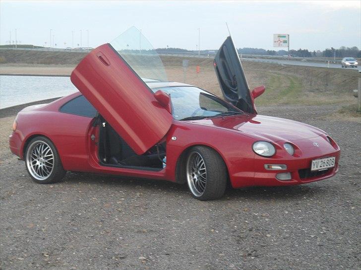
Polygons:
[[223,196],[227,186],[227,168],[213,149],[195,146],[186,159],[186,179],[192,196],[201,201]]

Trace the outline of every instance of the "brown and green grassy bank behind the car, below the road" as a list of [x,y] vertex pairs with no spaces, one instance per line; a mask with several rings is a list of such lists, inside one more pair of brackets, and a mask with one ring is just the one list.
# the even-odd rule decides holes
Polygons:
[[[69,76],[86,52],[0,50],[0,74]],[[185,82],[222,95],[213,59],[161,56],[169,81]],[[185,81],[182,60],[188,59]],[[353,104],[359,73],[351,70],[242,61],[250,89],[266,86],[258,105]],[[196,73],[200,66],[200,73]]]

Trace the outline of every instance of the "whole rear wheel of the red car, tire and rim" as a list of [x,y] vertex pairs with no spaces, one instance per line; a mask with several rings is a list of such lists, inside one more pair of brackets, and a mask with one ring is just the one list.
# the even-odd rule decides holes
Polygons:
[[40,184],[60,182],[66,173],[53,142],[44,136],[37,136],[28,143],[25,166],[31,179]]

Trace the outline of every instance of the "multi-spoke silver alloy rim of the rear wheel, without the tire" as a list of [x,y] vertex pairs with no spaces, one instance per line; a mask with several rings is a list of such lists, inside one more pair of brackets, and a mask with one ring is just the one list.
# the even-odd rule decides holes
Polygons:
[[37,180],[46,180],[54,169],[54,153],[45,141],[36,140],[26,152],[26,167]]

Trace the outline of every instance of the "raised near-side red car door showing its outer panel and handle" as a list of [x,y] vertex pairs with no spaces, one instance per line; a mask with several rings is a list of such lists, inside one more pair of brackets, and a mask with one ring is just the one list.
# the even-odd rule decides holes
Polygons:
[[110,44],[86,55],[70,79],[138,155],[172,125],[172,114]]

